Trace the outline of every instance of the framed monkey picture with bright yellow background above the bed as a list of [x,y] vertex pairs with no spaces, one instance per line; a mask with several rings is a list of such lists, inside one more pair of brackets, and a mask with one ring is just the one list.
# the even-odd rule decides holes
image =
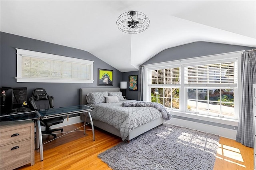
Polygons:
[[113,70],[98,69],[98,85],[113,85]]

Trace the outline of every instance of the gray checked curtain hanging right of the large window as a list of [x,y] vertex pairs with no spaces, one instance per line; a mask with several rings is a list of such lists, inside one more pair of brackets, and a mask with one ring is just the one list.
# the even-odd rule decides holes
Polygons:
[[256,51],[242,54],[242,103],[236,141],[253,148],[253,84],[256,83]]

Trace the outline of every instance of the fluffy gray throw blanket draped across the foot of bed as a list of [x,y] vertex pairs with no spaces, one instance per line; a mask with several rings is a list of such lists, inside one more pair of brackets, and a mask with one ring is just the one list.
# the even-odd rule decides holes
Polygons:
[[144,101],[124,101],[122,103],[122,107],[154,107],[161,112],[164,120],[168,121],[172,118],[170,111],[168,111],[163,105],[160,103],[154,102],[144,102]]

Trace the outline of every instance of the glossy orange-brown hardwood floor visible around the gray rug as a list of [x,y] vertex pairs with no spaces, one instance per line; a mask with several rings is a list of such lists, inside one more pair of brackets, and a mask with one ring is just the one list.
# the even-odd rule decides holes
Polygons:
[[[82,126],[82,123],[64,127],[64,132]],[[89,127],[88,127],[89,128]],[[52,136],[44,138],[44,142]],[[112,148],[121,138],[95,128],[95,141],[92,130],[72,132],[44,144],[44,160],[35,150],[35,164],[22,166],[20,170],[110,170],[97,155]],[[253,170],[253,148],[246,147],[235,140],[220,138],[214,170]]]

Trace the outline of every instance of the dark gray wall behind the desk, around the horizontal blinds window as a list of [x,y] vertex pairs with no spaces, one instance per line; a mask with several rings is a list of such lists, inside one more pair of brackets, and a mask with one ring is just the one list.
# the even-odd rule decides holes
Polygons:
[[[95,57],[87,51],[66,47],[63,45],[57,45],[53,43],[43,42],[26,38],[22,36],[16,36],[13,34],[0,33],[1,38],[1,51],[0,51],[0,86],[7,87],[27,87],[28,97],[32,96],[32,91],[35,88],[44,88],[49,95],[54,96],[55,107],[66,107],[79,105],[79,89],[83,87],[100,87],[98,86],[98,68],[113,70],[113,86],[120,87],[120,81],[122,80],[122,73],[114,67],[108,65],[104,61]],[[87,59],[94,61],[93,64],[93,83],[17,83],[16,82],[16,49],[27,49],[31,51],[38,51],[43,53],[50,53],[55,55],[62,55],[66,57],[74,57],[79,59]],[[108,86],[109,87],[109,86]]]

